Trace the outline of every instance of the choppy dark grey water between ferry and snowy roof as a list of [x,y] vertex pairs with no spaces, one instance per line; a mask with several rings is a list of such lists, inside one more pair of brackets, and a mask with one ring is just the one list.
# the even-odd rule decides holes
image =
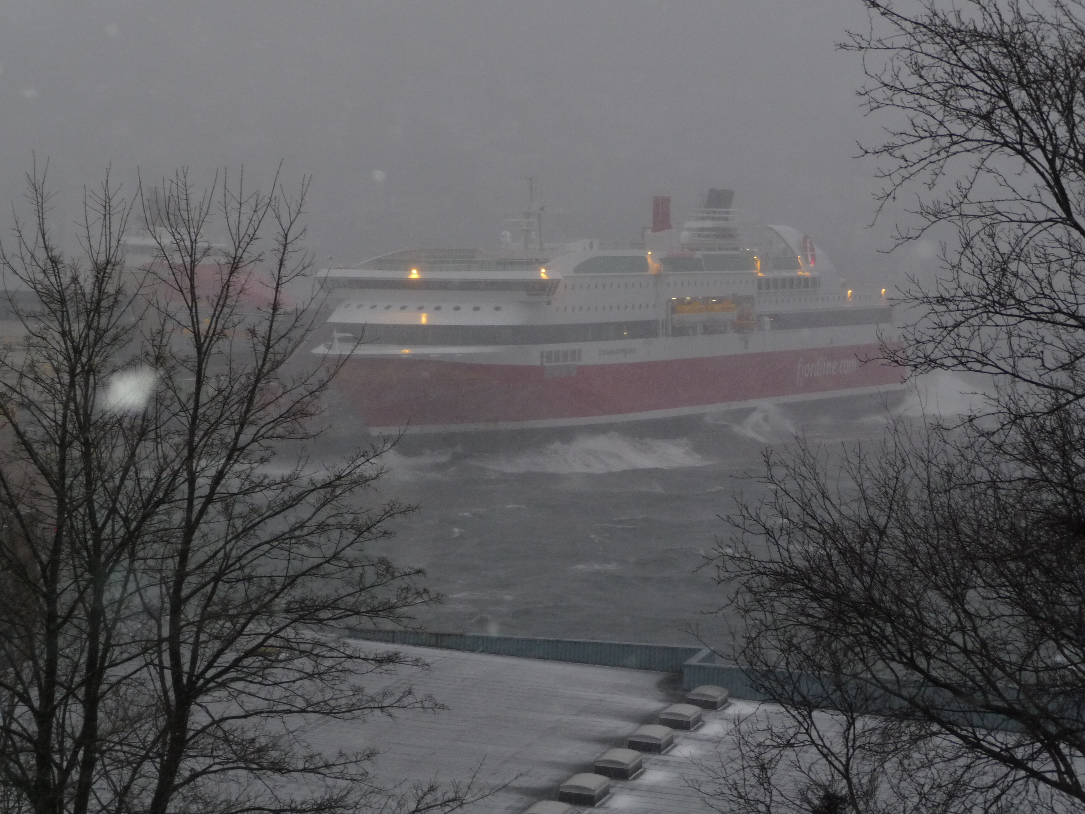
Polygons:
[[737,494],[761,494],[744,475],[765,447],[804,432],[839,448],[886,420],[873,403],[761,407],[673,438],[629,428],[507,451],[393,451],[381,494],[420,508],[378,550],[445,595],[419,614],[433,631],[695,644],[700,627],[719,641],[727,619],[712,611],[726,593],[699,567],[730,533],[720,516]]

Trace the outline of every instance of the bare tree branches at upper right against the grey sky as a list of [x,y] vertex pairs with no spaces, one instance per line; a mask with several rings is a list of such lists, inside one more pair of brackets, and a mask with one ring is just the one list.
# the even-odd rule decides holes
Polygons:
[[[1085,7],[1017,0],[864,0],[866,107],[889,123],[877,157],[885,204],[920,192],[915,240],[949,227],[943,272],[911,280],[916,315],[886,356],[916,371],[970,370],[1085,395]],[[936,230],[942,233],[941,230]],[[1003,405],[1027,411],[1032,405]]]

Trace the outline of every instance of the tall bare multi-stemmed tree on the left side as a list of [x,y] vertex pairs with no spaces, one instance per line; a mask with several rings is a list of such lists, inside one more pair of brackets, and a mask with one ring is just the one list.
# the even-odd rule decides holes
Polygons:
[[[0,796],[5,811],[451,810],[385,788],[372,750],[307,726],[433,710],[343,628],[404,624],[418,570],[367,552],[409,510],[373,499],[387,448],[314,457],[336,369],[297,361],[314,309],[302,203],[225,174],[141,194],[154,255],[125,267],[132,204],[85,198],[80,251],[47,229],[44,175],[2,255],[27,336],[0,356]],[[213,243],[208,236],[225,236]],[[308,355],[305,354],[303,359]],[[376,684],[376,687],[370,686]]]

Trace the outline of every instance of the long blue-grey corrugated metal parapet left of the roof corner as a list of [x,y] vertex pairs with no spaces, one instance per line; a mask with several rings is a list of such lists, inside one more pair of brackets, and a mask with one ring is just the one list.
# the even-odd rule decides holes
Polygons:
[[[610,667],[679,673],[701,648],[676,645],[639,645],[628,641],[590,639],[541,639],[526,636],[476,636],[462,633],[416,633],[411,631],[354,631],[353,636],[394,645],[441,647],[494,656],[599,664]],[[702,682],[703,683],[703,682]]]

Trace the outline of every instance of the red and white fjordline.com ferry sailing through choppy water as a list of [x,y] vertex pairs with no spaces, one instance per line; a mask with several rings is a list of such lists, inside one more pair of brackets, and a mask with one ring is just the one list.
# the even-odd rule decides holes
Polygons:
[[[541,207],[498,251],[417,249],[318,271],[315,354],[379,434],[617,424],[899,390],[884,288],[807,236],[741,222],[710,190],[681,227],[653,199],[636,247],[545,244]],[[343,359],[344,356],[348,358]]]

